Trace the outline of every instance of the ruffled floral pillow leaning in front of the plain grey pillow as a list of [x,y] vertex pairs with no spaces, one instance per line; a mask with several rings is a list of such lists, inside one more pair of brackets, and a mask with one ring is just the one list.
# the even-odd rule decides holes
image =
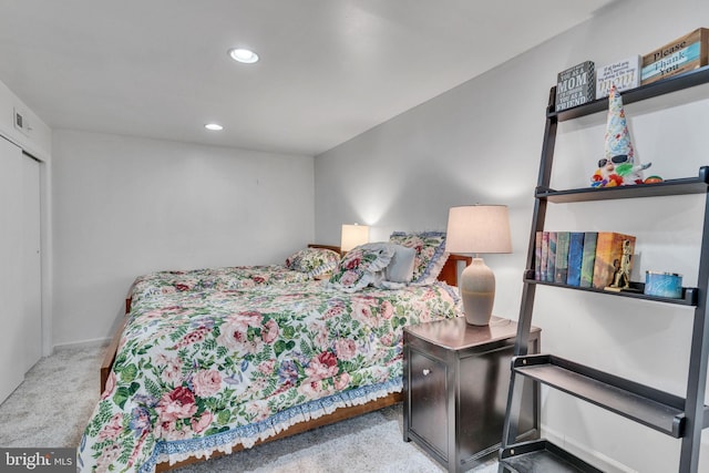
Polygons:
[[378,273],[389,265],[393,256],[393,246],[386,243],[357,246],[342,257],[328,286],[347,292],[360,290],[377,281]]

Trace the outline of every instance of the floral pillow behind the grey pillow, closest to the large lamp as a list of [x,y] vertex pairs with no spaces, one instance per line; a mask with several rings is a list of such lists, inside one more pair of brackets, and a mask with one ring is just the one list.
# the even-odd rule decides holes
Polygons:
[[415,249],[417,256],[411,279],[413,285],[435,282],[448,260],[445,232],[394,232],[389,237],[389,241]]

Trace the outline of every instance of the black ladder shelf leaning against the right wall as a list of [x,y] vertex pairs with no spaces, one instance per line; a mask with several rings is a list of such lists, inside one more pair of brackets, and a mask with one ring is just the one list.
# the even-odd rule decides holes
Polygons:
[[[651,84],[623,92],[624,104],[638,102],[696,85],[709,83],[709,66],[676,75]],[[520,419],[521,381],[530,378],[589,403],[607,409],[658,432],[681,441],[678,471],[696,473],[699,465],[701,431],[709,426],[709,408],[703,404],[709,358],[709,166],[702,166],[696,177],[669,179],[659,184],[625,187],[553,189],[549,187],[556,128],[558,122],[603,112],[608,99],[600,99],[562,112],[554,111],[556,88],[549,92],[544,130],[544,143],[540,174],[535,191],[534,215],[524,277],[522,305],[512,361],[510,395],[507,399],[500,472],[551,473],[599,472],[597,467],[546,441],[516,443]],[[546,282],[534,278],[534,245],[536,232],[544,229],[547,203],[575,203],[588,200],[662,197],[684,194],[705,194],[705,215],[701,254],[698,269],[698,287],[684,288],[682,298],[668,299],[639,292],[608,292],[563,284]],[[608,296],[648,299],[666,304],[693,307],[690,361],[687,374],[686,398],[639,384],[552,354],[527,356],[527,342],[532,327],[535,290],[538,285],[551,285],[573,290],[590,290]]]

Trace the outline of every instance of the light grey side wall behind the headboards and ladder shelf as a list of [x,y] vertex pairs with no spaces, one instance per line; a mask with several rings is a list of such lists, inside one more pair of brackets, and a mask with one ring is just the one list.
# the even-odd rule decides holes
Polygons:
[[[516,319],[544,112],[556,73],[585,60],[603,65],[644,54],[699,27],[709,27],[709,2],[619,1],[528,53],[317,156],[316,239],[337,243],[339,225],[350,222],[371,225],[372,240],[386,239],[392,230],[444,229],[450,206],[506,204],[514,254],[486,255],[485,260],[497,278],[495,313]],[[709,164],[709,88],[681,95],[701,102],[675,107],[659,100],[626,107],[639,160],[654,162],[648,171],[666,178],[693,176]],[[586,186],[603,157],[605,116],[563,125],[553,184]],[[685,274],[685,285],[691,286],[697,282],[702,210],[701,196],[557,205],[549,208],[547,228],[631,233],[639,251],[635,279],[646,269],[671,270]],[[691,319],[691,309],[542,287],[534,323],[543,329],[544,351],[685,395]],[[548,436],[605,470],[677,471],[678,441],[556,391],[545,390],[543,403]],[[707,434],[701,465],[700,471],[709,471]]]

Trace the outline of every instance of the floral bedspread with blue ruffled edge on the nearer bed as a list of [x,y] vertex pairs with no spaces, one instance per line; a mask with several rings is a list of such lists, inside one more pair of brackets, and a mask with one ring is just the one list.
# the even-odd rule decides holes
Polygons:
[[[254,443],[402,389],[402,329],[460,315],[444,284],[356,294],[320,281],[134,304],[79,450],[81,471]],[[110,467],[111,466],[111,467]]]

